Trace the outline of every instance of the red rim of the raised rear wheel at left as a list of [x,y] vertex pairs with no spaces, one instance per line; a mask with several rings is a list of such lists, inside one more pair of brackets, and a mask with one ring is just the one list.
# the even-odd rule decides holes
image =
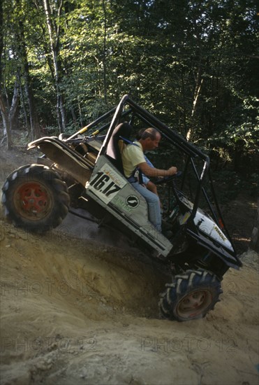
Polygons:
[[49,191],[43,184],[31,181],[15,191],[15,208],[20,215],[31,220],[44,218],[52,207]]

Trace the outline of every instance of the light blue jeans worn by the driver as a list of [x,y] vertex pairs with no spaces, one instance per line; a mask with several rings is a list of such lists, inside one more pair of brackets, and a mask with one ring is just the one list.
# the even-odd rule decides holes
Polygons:
[[141,186],[138,182],[131,184],[135,190],[137,190],[141,195],[143,195],[143,197],[145,197],[149,209],[149,221],[154,225],[156,230],[161,232],[161,209],[158,196],[154,193],[151,193],[151,191]]

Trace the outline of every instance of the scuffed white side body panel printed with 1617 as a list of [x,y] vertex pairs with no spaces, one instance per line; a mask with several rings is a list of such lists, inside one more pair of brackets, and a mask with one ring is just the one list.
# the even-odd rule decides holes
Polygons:
[[148,220],[145,198],[119,174],[105,156],[98,158],[85,187],[89,197],[94,200],[98,197],[98,204],[145,239],[159,254],[166,257],[170,253],[172,243]]

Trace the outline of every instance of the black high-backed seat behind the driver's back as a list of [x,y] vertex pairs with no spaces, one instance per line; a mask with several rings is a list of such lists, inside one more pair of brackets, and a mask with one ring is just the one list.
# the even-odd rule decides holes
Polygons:
[[106,155],[112,161],[113,165],[117,167],[121,174],[124,174],[124,168],[121,160],[121,141],[129,139],[132,126],[129,123],[120,123],[114,128],[112,137],[107,146]]

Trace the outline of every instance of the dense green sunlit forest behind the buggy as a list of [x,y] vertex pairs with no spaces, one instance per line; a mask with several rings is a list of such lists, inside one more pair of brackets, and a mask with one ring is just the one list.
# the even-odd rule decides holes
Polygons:
[[130,94],[208,153],[225,199],[255,197],[258,19],[253,0],[1,0],[2,146],[75,132]]

